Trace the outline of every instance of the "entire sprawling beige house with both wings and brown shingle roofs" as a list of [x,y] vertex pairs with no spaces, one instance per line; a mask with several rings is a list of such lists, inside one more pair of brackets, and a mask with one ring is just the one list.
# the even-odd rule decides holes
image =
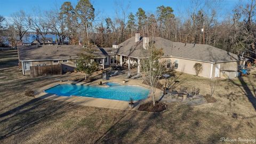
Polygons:
[[[94,60],[102,69],[111,65],[127,65],[130,69],[134,65],[140,73],[140,60],[145,58],[143,51],[146,51],[151,42],[164,52],[159,61],[164,61],[166,68],[174,68],[182,73],[195,75],[194,65],[201,63],[203,70],[199,76],[230,78],[237,75],[238,69],[243,67],[246,61],[234,53],[211,45],[172,42],[162,37],[149,39],[141,37],[139,33],[121,44],[113,44],[112,47],[94,47]],[[81,45],[19,47],[19,61],[23,75],[30,74],[30,66],[57,65],[58,63],[61,63],[63,73],[72,71],[76,68],[77,54],[83,52],[83,49],[85,48]]]

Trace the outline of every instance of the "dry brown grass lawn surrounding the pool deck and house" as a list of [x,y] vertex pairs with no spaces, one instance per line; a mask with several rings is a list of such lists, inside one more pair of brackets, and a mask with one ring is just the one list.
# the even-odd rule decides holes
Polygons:
[[[215,103],[167,105],[162,114],[95,108],[71,102],[34,99],[36,90],[55,82],[22,76],[16,51],[0,51],[0,143],[218,143],[221,137],[254,138],[256,82],[253,75],[218,82]],[[210,80],[175,73],[175,89],[199,87],[210,93]],[[73,76],[73,75],[72,75]],[[75,75],[74,75],[75,76]]]

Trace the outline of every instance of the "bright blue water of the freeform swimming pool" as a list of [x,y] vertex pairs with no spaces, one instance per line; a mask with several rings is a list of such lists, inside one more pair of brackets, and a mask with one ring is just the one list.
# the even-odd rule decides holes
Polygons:
[[76,95],[81,97],[93,97],[124,101],[130,101],[131,98],[134,101],[146,99],[149,94],[148,89],[140,86],[120,85],[118,83],[106,84],[109,87],[77,84],[59,84],[45,90],[45,92],[62,96]]

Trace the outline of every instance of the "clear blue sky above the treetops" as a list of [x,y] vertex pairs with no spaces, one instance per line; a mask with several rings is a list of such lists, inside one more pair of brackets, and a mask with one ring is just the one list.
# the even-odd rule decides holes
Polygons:
[[[221,9],[219,10],[222,13],[230,12],[236,4],[245,1],[247,0],[224,0],[221,2]],[[38,7],[42,11],[51,10],[55,9],[56,6],[60,7],[63,2],[65,2],[65,0],[0,0],[0,15],[10,17],[12,13],[19,10],[30,13],[33,12],[33,9],[38,9]],[[75,6],[77,0],[70,0],[70,2]],[[100,15],[99,19],[104,17],[115,17],[117,3],[122,3],[124,7],[130,5],[129,9],[126,10],[127,13],[135,13],[139,7],[142,7],[146,12],[154,13],[157,6],[164,5],[171,6],[174,10],[174,14],[179,15],[180,12],[184,13],[187,9],[192,8],[189,0],[92,0],[95,11]]]

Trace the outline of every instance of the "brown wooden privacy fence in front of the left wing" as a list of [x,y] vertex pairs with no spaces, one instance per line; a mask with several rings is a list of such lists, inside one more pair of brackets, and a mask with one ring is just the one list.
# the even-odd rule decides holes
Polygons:
[[46,65],[46,66],[30,66],[30,76],[47,76],[47,75],[61,75],[61,64]]

